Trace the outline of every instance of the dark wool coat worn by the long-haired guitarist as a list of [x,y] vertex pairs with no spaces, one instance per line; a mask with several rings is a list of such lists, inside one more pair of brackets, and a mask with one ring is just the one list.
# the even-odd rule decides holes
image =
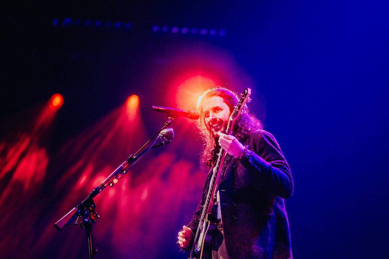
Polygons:
[[[265,130],[252,132],[241,142],[246,155],[226,155],[227,165],[219,185],[224,239],[230,259],[292,258],[284,198],[293,193],[293,179],[275,138]],[[210,172],[212,174],[212,172]],[[188,228],[197,229],[201,204]]]

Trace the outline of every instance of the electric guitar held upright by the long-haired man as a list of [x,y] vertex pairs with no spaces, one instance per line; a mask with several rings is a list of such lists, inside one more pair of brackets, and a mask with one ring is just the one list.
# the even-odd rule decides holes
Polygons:
[[[237,105],[230,115],[228,120],[226,134],[230,135],[232,133],[233,127],[237,118],[239,117],[241,111],[243,110],[245,103],[249,102],[249,96],[251,94],[251,89],[246,88],[243,94],[240,94],[240,99],[238,100]],[[212,258],[211,251],[211,242],[212,235],[216,229],[216,209],[217,205],[210,204],[212,197],[215,197],[217,189],[215,183],[217,181],[217,176],[221,174],[224,157],[226,156],[226,151],[221,148],[217,157],[216,164],[212,169],[213,173],[209,181],[209,188],[207,192],[207,198],[203,204],[202,213],[200,214],[200,221],[197,226],[196,235],[193,238],[193,243],[191,250],[189,251],[188,258],[190,259],[210,259]],[[212,209],[209,207],[212,206]],[[209,212],[209,209],[210,212]]]

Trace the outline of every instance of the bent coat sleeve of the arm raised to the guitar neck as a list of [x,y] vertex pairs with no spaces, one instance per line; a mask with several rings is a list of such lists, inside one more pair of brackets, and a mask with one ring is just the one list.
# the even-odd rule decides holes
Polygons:
[[259,130],[247,144],[252,149],[247,149],[240,163],[270,192],[285,199],[291,197],[294,188],[292,174],[272,134]]

